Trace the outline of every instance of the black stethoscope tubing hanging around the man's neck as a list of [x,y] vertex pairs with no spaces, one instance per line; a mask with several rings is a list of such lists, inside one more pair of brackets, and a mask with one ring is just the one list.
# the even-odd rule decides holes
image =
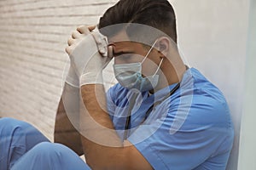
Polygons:
[[[164,100],[166,100],[167,98],[169,98],[170,96],[172,96],[172,94],[174,94],[177,89],[180,87],[180,82],[177,83],[177,85],[172,88],[172,91],[170,93],[168,93],[166,95],[166,97],[164,99],[161,99],[160,101],[157,101],[155,102],[153,105],[151,105],[148,109],[148,111],[146,112],[146,115],[145,115],[145,118],[144,118],[144,121],[148,118],[149,114],[151,113],[151,111],[153,110],[153,108],[157,105],[160,105],[161,102],[163,102]],[[132,108],[135,104],[135,101],[137,99],[137,96],[138,94],[133,94],[131,96],[131,103],[130,103],[130,107],[129,107],[129,110],[128,110],[128,116],[126,118],[126,122],[125,122],[125,134],[124,134],[124,140],[127,139],[127,136],[128,136],[128,130],[129,130],[129,126],[131,124],[131,111],[132,111]],[[143,122],[144,122],[143,121]]]

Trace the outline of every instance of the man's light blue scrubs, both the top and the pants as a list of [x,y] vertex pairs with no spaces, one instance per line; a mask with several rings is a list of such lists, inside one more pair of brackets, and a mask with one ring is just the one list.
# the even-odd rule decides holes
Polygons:
[[[152,95],[145,92],[137,96],[128,140],[154,169],[225,169],[234,130],[223,94],[195,69],[186,71],[180,88],[172,96],[166,96],[176,85]],[[121,139],[129,102],[135,93],[117,84],[107,94],[108,111]],[[1,118],[0,170],[6,169],[87,170],[90,167],[73,150],[49,143],[28,123]]]

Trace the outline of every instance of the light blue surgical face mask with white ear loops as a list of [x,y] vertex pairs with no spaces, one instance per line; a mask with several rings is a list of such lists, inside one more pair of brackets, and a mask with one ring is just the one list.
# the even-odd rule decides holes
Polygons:
[[[153,46],[149,49],[148,54],[150,54],[156,42],[157,41],[155,41]],[[161,59],[160,65],[154,72],[153,76],[143,77],[142,65],[144,60],[147,59],[148,54],[145,56],[141,63],[113,65],[114,75],[121,86],[128,89],[136,88],[140,92],[152,90],[157,86],[159,75],[156,73],[160,70],[160,65],[162,64],[163,59]]]

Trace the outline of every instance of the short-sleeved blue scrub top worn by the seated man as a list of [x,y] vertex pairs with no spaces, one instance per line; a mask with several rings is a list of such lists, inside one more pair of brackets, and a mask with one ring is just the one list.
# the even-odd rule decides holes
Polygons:
[[[234,128],[224,95],[195,68],[184,73],[174,94],[166,96],[176,85],[137,96],[128,140],[154,169],[225,169]],[[119,83],[108,90],[108,111],[120,139],[135,93]]]

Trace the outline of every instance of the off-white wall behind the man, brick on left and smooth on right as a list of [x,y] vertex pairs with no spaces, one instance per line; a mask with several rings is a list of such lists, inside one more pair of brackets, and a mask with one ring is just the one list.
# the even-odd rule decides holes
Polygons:
[[[243,104],[249,0],[170,1],[177,12],[179,46],[189,65],[214,82],[230,104],[236,139],[228,169],[234,170]],[[0,1],[0,116],[31,122],[52,139],[67,61],[67,38],[76,26],[96,24],[115,2]],[[244,120],[247,122],[247,117]],[[241,156],[247,156],[247,152]]]

